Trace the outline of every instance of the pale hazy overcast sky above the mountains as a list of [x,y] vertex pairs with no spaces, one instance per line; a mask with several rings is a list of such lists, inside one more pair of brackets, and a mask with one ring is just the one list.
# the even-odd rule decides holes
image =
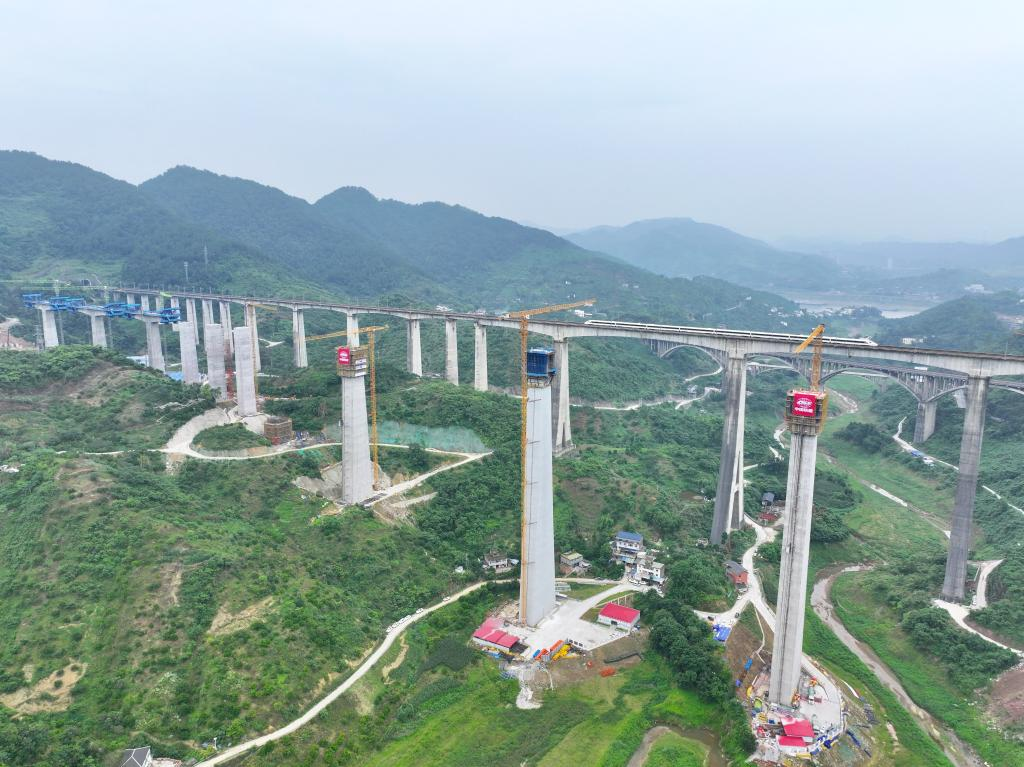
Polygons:
[[998,240],[1022,35],[1019,0],[0,0],[0,147],[550,226]]

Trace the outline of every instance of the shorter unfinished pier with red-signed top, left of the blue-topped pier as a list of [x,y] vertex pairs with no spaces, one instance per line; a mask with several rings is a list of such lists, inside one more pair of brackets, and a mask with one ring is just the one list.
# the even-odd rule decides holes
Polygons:
[[350,348],[347,361],[339,354],[341,376],[341,500],[357,504],[374,494],[374,465],[370,459],[367,424],[368,349]]

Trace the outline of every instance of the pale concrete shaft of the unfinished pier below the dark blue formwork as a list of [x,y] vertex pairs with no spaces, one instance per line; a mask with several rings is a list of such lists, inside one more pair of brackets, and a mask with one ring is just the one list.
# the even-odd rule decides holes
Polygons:
[[526,626],[537,626],[555,608],[551,461],[551,385],[531,382],[526,390],[526,502],[519,565],[519,621]]

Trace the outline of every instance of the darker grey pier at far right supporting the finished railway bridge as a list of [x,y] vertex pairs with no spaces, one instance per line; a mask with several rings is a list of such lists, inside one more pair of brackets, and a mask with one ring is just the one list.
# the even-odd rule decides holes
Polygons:
[[952,530],[942,596],[951,601],[964,599],[967,559],[971,550],[971,526],[974,522],[974,498],[978,492],[978,468],[981,464],[981,440],[985,433],[985,404],[988,400],[987,378],[968,379],[967,413],[961,437],[959,473],[953,501]]

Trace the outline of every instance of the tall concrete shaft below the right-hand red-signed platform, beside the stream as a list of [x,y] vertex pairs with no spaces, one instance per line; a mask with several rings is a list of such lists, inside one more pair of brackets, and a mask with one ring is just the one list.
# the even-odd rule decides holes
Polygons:
[[785,491],[782,562],[775,612],[775,646],[771,656],[768,699],[792,706],[800,684],[804,653],[804,610],[807,603],[807,564],[811,548],[811,512],[814,467],[817,460],[816,427],[791,434],[790,475]]

